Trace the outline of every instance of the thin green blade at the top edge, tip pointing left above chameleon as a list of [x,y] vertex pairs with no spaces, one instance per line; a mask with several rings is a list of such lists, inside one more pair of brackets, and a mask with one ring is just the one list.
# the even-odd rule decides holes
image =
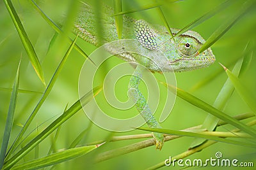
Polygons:
[[168,1],[163,1],[161,3],[152,3],[150,5],[142,6],[140,9],[122,11],[122,12],[115,13],[115,14],[111,15],[111,17],[115,17],[117,15],[125,15],[125,14],[128,14],[128,13],[134,13],[134,12],[138,12],[138,11],[149,10],[149,9],[152,9],[152,8],[157,8],[159,6],[163,6],[164,4],[167,4],[167,3],[175,3],[177,1],[180,1],[180,0],[168,0]]

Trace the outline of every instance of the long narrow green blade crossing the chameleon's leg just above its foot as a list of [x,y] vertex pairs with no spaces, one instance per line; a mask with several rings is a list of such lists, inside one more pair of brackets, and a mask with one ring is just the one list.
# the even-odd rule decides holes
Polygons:
[[230,143],[233,145],[241,145],[241,146],[256,148],[255,143],[246,143],[246,142],[242,142],[242,141],[235,141],[235,140],[231,140],[231,139],[219,138],[216,136],[209,136],[209,135],[205,135],[205,134],[200,134],[200,132],[194,133],[194,132],[174,131],[174,130],[170,130],[170,129],[154,129],[154,128],[148,128],[148,127],[140,127],[138,129],[141,129],[143,131],[159,132],[159,133],[163,133],[163,134],[173,134],[173,135],[178,135],[178,136],[204,138],[204,139],[210,139],[212,141],[218,141],[218,142],[223,142],[223,143]]

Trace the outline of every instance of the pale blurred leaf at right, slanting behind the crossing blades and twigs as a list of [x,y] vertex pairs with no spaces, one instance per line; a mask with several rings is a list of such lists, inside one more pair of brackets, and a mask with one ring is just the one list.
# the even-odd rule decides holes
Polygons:
[[[243,62],[243,60],[241,59],[236,63],[236,65],[234,66],[234,69],[232,71],[234,74],[236,74],[236,75],[239,74],[239,71],[242,66],[242,62]],[[223,85],[222,89],[220,90],[220,93],[218,94],[218,96],[212,106],[214,106],[218,110],[223,111],[225,106],[227,105],[227,101],[228,101],[228,99],[230,99],[230,96],[232,95],[233,91],[234,91],[234,86],[232,85],[231,81],[228,78],[227,81],[225,82],[225,84]],[[215,129],[216,125],[218,124],[219,120],[220,120],[220,118],[214,117],[213,115],[211,115],[209,113],[208,116],[205,118],[204,123],[202,124],[201,128],[207,129],[207,131],[213,131]],[[202,143],[204,143],[204,141],[205,140],[202,138],[196,138],[190,147],[194,148],[195,146],[198,146],[198,145],[201,145]]]

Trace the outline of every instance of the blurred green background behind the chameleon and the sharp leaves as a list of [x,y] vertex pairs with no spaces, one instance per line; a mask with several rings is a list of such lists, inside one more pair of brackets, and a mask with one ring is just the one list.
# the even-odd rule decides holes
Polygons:
[[[68,43],[61,42],[60,36],[56,36],[54,41],[52,37],[54,36],[54,30],[51,26],[45,22],[45,20],[40,17],[40,15],[33,9],[28,1],[12,1],[15,10],[24,25],[24,28],[31,40],[33,46],[35,47],[36,54],[40,59],[42,68],[44,71],[45,81],[49,83],[52,74],[54,73],[56,67],[60,63],[63,55],[68,48]],[[141,6],[147,6],[147,4],[152,4],[154,1],[122,1],[123,10],[137,9],[138,4]],[[135,3],[136,2],[136,3]],[[162,7],[164,16],[168,20],[170,27],[180,29],[189,22],[195,20],[196,18],[204,15],[207,11],[212,10],[215,6],[222,3],[223,1],[204,1],[204,0],[187,0],[179,1],[177,3],[166,4]],[[240,1],[241,2],[241,1]],[[63,18],[67,15],[67,11],[70,10],[70,4],[72,1],[68,0],[55,0],[55,1],[36,1],[40,8],[54,21],[57,23],[63,22]],[[104,3],[113,6],[113,1],[104,1]],[[137,6],[134,6],[136,4]],[[220,13],[216,14],[214,17],[205,21],[204,23],[198,25],[193,29],[193,31],[199,32],[205,39],[211,36],[218,27],[220,27],[227,18],[234,16],[234,13],[239,10],[239,5],[234,5],[231,8],[227,8]],[[130,16],[136,19],[144,19],[152,24],[162,24],[159,16],[156,14],[156,9],[150,9],[145,11],[139,11],[132,13]],[[256,39],[256,8],[248,11],[228,32],[221,37],[214,45],[211,46],[212,52],[216,56],[216,62],[207,68],[198,69],[195,71],[189,71],[184,73],[175,73],[177,78],[177,87],[186,90],[193,94],[194,96],[202,99],[206,103],[212,104],[218,96],[223,83],[227,80],[227,74],[222,70],[222,67],[218,62],[228,66],[232,69],[234,61],[239,57],[243,57],[243,49],[248,43]],[[6,116],[8,112],[8,105],[10,103],[11,91],[3,88],[12,88],[13,80],[15,78],[15,73],[17,71],[17,66],[19,64],[20,57],[20,85],[19,89],[33,90],[35,92],[44,92],[45,87],[36,75],[33,67],[31,66],[26,51],[22,46],[19,35],[13,25],[8,11],[6,10],[3,1],[0,1],[0,129],[4,129]],[[74,37],[74,35],[72,36]],[[50,43],[51,42],[51,43]],[[50,45],[51,44],[51,45]],[[83,41],[83,39],[77,39],[77,44],[83,48],[84,52],[90,54],[95,50],[95,46],[90,45]],[[45,129],[47,125],[51,124],[58,116],[63,113],[65,106],[71,106],[74,102],[79,99],[78,97],[78,79],[81,67],[83,66],[84,57],[78,53],[76,50],[72,50],[70,57],[68,57],[63,70],[56,81],[51,94],[47,97],[42,108],[36,115],[32,124],[29,126],[28,132],[32,132],[32,139],[40,131]],[[116,62],[121,62],[120,59],[113,59]],[[113,62],[112,62],[113,63]],[[256,96],[256,59],[253,56],[250,67],[243,76],[241,80],[243,81],[246,88],[252,92],[253,96]],[[111,66],[109,66],[111,67]],[[214,76],[211,81],[200,87],[199,89],[193,90],[193,87],[198,85],[198,83],[207,79],[207,77],[220,71],[220,74]],[[90,81],[90,80],[88,80]],[[124,89],[124,84],[117,84],[116,89]],[[124,92],[124,90],[117,90],[119,92]],[[126,92],[124,92],[125,97]],[[21,129],[20,126],[26,122],[33,108],[35,108],[36,103],[42,96],[41,93],[19,93],[17,108],[15,111],[15,118],[13,122],[12,136],[10,138],[10,143],[13,143],[17,134]],[[250,112],[250,109],[244,101],[238,96],[235,91],[230,100],[228,101],[227,108],[224,110],[228,115],[234,116],[241,113]],[[161,126],[165,129],[181,130],[188,127],[193,127],[195,125],[200,125],[204,122],[207,113],[195,106],[179,99],[177,97],[175,106],[172,113],[165,120]],[[253,120],[250,118],[243,122],[248,122]],[[90,120],[86,117],[83,110],[80,110],[74,117],[70,118],[68,122],[65,122],[61,126],[60,135],[56,142],[56,150],[62,148],[67,148],[74,139],[81,133],[84,129],[92,125],[90,131],[86,133],[83,140],[80,142],[81,145],[86,143],[91,143],[93,141],[98,141],[108,138],[111,132],[104,129],[100,129],[97,125],[90,123]],[[225,125],[225,127],[219,127],[218,131],[231,131],[234,129],[231,125]],[[0,131],[0,136],[2,138],[4,130]],[[29,133],[26,133],[28,135]],[[115,133],[118,135],[127,134],[140,134],[145,133],[143,131],[131,131]],[[51,147],[51,138],[47,138],[39,145],[39,157],[47,155],[49,148]],[[128,141],[118,141],[114,143],[106,143],[100,146],[97,150],[90,152],[83,157],[78,159],[69,160],[62,164],[59,164],[57,169],[145,169],[150,166],[162,162],[168,159],[169,156],[178,155],[186,150],[188,150],[193,138],[183,137],[175,139],[173,141],[168,141],[164,143],[163,150],[155,149],[155,146],[150,146],[136,152],[128,153],[116,157],[114,159],[106,160],[98,164],[93,163],[93,159],[97,154],[102,153],[113,148],[119,148],[121,146],[126,146],[143,139],[132,139]],[[2,139],[1,139],[2,141]],[[189,159],[209,159],[210,157],[215,157],[216,152],[223,153],[223,157],[230,159],[238,159],[244,162],[254,162],[255,149],[246,148],[244,146],[229,145],[227,143],[216,143],[209,148],[202,150],[202,152],[195,153],[187,158]],[[27,161],[34,158],[35,151],[30,152],[24,159],[20,160]],[[164,167],[165,169],[181,169],[182,167]],[[164,169],[163,168],[163,169]],[[216,169],[218,167],[204,167],[207,169]],[[49,168],[47,168],[49,169]],[[250,167],[246,168],[250,169]],[[253,169],[251,167],[251,169]]]

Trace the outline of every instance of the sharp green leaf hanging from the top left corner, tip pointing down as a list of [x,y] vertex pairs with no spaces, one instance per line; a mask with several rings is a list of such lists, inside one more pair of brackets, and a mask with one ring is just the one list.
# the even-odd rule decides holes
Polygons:
[[20,22],[20,18],[17,15],[12,2],[10,0],[4,0],[4,4],[5,4],[8,12],[10,13],[10,17],[13,20],[13,24],[15,25],[15,28],[17,29],[17,32],[20,36],[20,40],[22,41],[22,44],[28,54],[29,60],[36,71],[36,74],[38,75],[38,77],[40,78],[42,83],[44,83],[44,85],[45,85],[44,74],[43,74],[40,62],[38,60],[38,57],[36,56],[35,49],[33,48],[31,41],[29,41],[28,35],[26,34],[26,31],[25,31],[24,27],[22,26],[22,23]]

